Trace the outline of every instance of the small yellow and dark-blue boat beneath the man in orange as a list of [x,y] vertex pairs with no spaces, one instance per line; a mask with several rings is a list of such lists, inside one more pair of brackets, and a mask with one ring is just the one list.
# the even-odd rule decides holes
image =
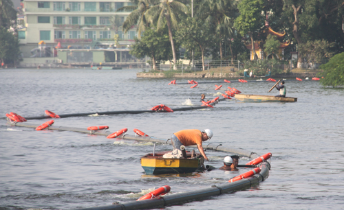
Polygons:
[[162,156],[167,152],[155,152],[154,155],[149,153],[142,156],[141,166],[144,172],[146,174],[186,174],[203,168],[204,159],[200,154],[195,154],[195,157],[191,158],[191,152],[186,152],[187,159],[165,159]]

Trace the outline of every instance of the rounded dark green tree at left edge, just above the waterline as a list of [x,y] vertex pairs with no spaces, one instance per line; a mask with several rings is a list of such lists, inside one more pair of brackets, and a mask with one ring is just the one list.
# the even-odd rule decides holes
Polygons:
[[10,63],[19,60],[19,40],[17,36],[0,27],[0,63]]

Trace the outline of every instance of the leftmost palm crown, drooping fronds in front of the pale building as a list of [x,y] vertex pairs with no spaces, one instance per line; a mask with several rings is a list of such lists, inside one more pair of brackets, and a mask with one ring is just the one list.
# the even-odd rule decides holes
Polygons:
[[159,3],[158,0],[139,0],[136,1],[137,5],[128,5],[122,8],[119,8],[117,11],[132,11],[127,19],[125,19],[122,29],[123,32],[128,32],[131,27],[134,25],[138,25],[138,38],[141,37],[141,34],[144,32],[146,27],[148,27],[148,23],[146,21],[145,13],[152,5],[156,5]]

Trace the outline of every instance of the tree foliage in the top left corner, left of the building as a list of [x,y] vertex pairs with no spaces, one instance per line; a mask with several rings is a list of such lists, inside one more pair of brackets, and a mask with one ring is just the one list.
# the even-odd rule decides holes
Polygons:
[[9,29],[16,25],[17,11],[14,10],[14,5],[11,0],[0,0],[0,28],[5,27]]

